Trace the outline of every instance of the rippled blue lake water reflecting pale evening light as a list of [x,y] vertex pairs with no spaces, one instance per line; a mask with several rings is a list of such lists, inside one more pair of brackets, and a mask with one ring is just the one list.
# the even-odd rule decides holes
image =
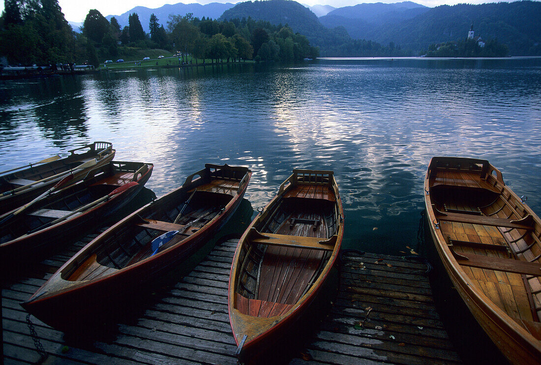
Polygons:
[[92,141],[155,164],[161,196],[204,163],[253,170],[263,207],[293,168],[334,170],[344,247],[417,248],[432,156],[486,158],[541,214],[541,59],[320,59],[0,82],[0,169]]

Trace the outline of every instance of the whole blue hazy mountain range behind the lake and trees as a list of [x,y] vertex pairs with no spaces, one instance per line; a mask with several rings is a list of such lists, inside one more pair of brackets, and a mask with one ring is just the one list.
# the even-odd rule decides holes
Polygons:
[[[292,0],[268,0],[243,3],[164,5],[149,9],[137,6],[115,16],[123,27],[136,12],[148,32],[150,14],[167,25],[169,14],[213,19],[251,17],[272,24],[288,24],[305,35],[322,55],[340,56],[340,44],[355,39],[397,46],[413,54],[428,45],[465,38],[473,24],[476,36],[497,39],[506,44],[511,55],[541,55],[541,2],[517,1],[480,5],[441,5],[436,8],[405,1],[394,4],[370,3],[333,8],[329,5],[306,6]],[[110,19],[111,15],[107,16]],[[353,39],[352,39],[353,38]],[[339,52],[338,54],[336,52]]]

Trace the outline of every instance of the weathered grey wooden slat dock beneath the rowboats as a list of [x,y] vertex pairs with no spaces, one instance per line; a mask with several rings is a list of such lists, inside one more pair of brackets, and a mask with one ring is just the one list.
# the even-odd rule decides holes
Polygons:
[[[71,245],[31,274],[3,283],[5,364],[40,360],[27,313],[19,306],[70,255],[91,240]],[[237,240],[216,245],[179,282],[171,283],[131,320],[100,338],[81,341],[31,316],[44,364],[221,364],[234,365],[227,285]],[[320,314],[319,327],[290,364],[459,364],[434,308],[426,265],[374,254],[344,255],[337,297]],[[59,308],[58,310],[62,310]]]

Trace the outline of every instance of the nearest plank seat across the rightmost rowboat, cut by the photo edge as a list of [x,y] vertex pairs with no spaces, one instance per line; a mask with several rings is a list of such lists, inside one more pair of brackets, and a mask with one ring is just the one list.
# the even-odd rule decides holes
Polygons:
[[456,256],[456,260],[462,266],[505,271],[506,273],[541,276],[541,264],[538,262],[465,254],[462,252]]

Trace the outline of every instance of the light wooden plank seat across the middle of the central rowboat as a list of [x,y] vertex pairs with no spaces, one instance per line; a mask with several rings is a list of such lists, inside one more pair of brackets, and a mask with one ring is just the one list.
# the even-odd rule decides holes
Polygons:
[[277,235],[273,233],[261,234],[255,230],[255,228],[252,228],[250,231],[253,232],[252,230],[255,231],[255,233],[252,233],[250,242],[254,244],[281,245],[286,247],[332,251],[334,250],[334,244],[337,241],[337,236],[326,239],[321,237]]

